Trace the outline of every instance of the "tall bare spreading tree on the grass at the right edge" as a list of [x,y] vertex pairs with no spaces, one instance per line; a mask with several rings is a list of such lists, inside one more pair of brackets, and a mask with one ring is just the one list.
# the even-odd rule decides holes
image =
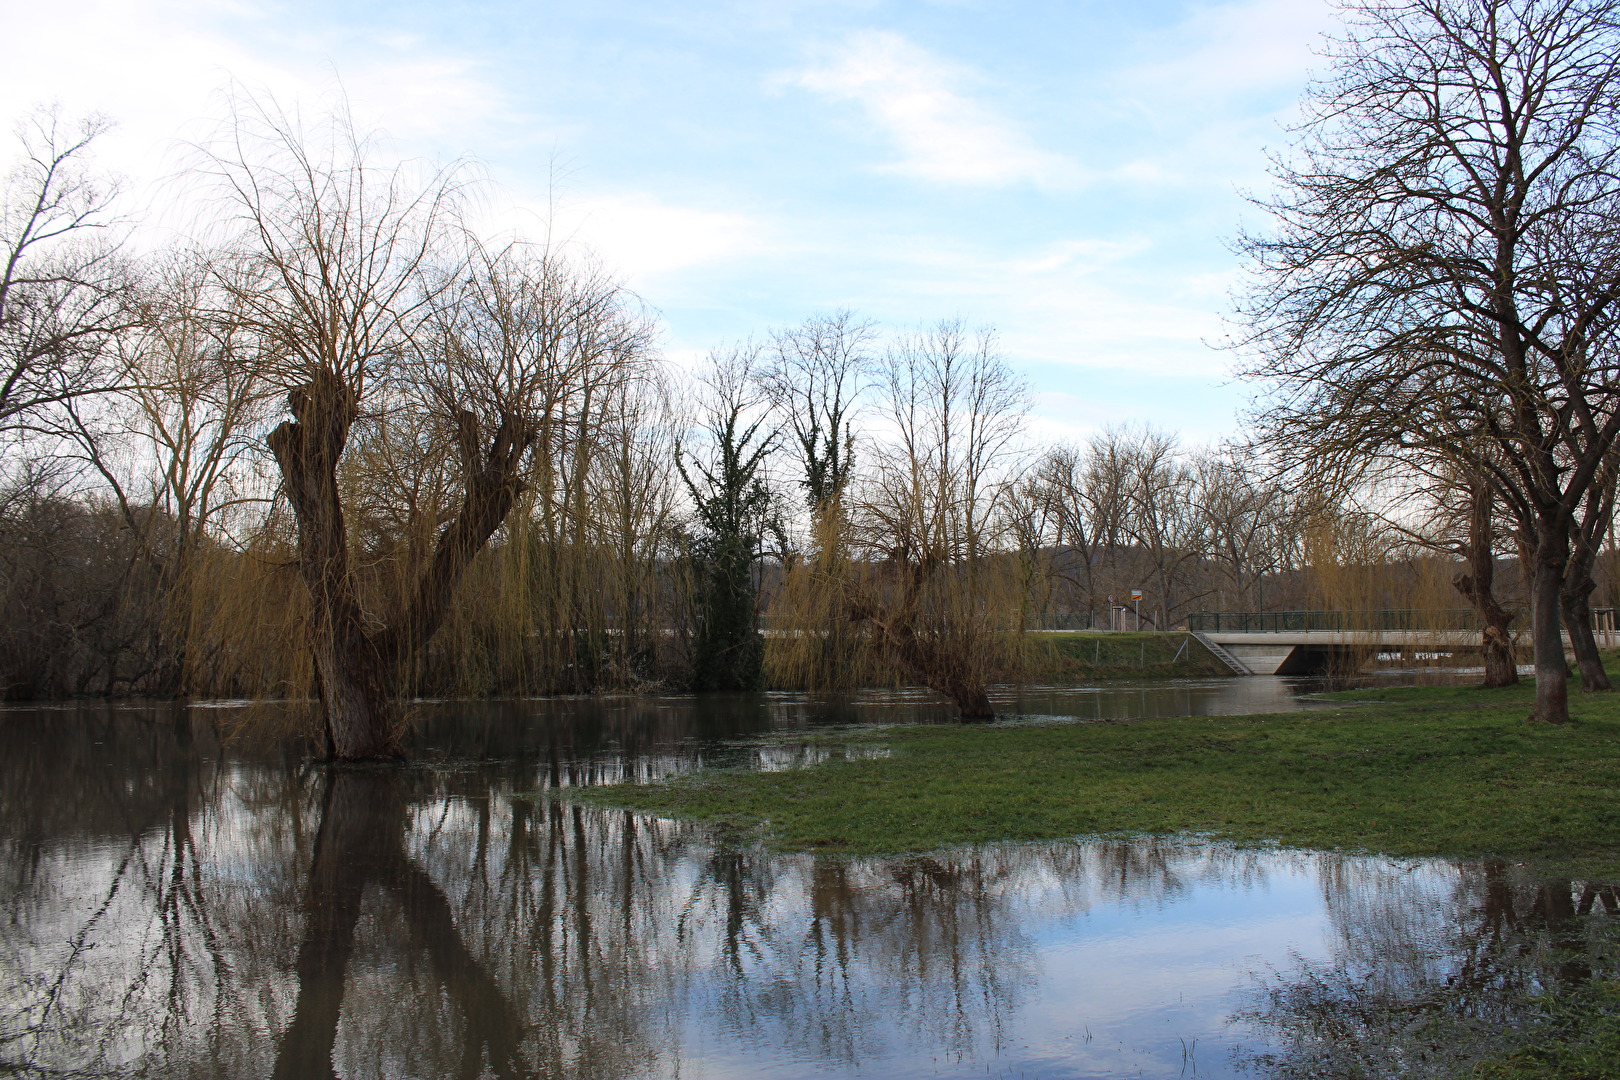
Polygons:
[[[1620,0],[1354,0],[1243,241],[1264,423],[1296,458],[1450,455],[1531,539],[1536,706],[1620,436]],[[1479,449],[1479,452],[1476,452]]]

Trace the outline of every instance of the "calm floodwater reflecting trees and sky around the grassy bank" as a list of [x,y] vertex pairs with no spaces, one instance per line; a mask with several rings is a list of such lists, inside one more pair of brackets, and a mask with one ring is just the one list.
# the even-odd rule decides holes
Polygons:
[[[1309,688],[1000,704],[1249,712]],[[1502,865],[1197,839],[770,855],[536,797],[797,767],[842,751],[755,737],[948,719],[923,696],[416,709],[415,763],[374,769],[232,737],[232,704],[0,709],[0,1074],[1443,1075],[1614,963],[1580,918],[1614,889]]]

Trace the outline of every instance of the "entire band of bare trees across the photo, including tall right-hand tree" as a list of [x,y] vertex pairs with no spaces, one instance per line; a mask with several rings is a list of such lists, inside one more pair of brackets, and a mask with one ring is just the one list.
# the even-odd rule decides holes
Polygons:
[[[287,696],[330,753],[408,695],[909,682],[966,716],[1022,631],[1200,609],[1528,606],[1536,717],[1607,685],[1615,5],[1353,5],[1241,240],[1241,445],[1040,445],[995,334],[812,316],[658,350],[462,165],[238,97],[185,240],[39,113],[3,209],[8,696]],[[1505,573],[1505,576],[1503,576]],[[1515,578],[1523,576],[1518,583]],[[1421,586],[1421,588],[1419,588]],[[1416,593],[1414,593],[1416,591]],[[1516,596],[1516,591],[1523,596]]]

